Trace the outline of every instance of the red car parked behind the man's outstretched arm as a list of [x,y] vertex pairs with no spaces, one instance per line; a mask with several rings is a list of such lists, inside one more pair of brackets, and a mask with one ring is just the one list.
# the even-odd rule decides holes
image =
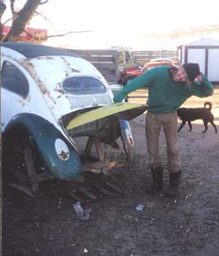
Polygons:
[[123,78],[123,83],[124,86],[130,81],[133,80],[134,78],[137,78],[139,75],[142,75],[143,73],[147,72],[149,69],[153,69],[155,67],[161,67],[161,66],[168,66],[172,67],[174,64],[171,60],[165,60],[161,61],[161,59],[155,59],[155,61],[149,61],[147,62],[142,68],[140,69],[134,69],[131,71],[126,72],[126,75]]

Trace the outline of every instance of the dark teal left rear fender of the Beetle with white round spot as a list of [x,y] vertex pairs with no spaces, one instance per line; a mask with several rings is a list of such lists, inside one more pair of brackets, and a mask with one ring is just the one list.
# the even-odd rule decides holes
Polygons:
[[79,154],[52,123],[32,113],[18,114],[7,124],[4,140],[15,129],[20,129],[31,142],[34,156],[39,157],[47,175],[64,181],[82,178]]

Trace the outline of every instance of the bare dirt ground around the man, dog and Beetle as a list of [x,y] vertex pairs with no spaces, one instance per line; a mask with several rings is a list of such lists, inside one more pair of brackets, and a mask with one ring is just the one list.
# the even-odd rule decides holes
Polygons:
[[[136,91],[130,102],[145,102],[147,91]],[[185,106],[202,107],[208,100],[219,129],[219,87],[212,97],[192,97]],[[218,256],[219,255],[219,133],[209,125],[206,134],[201,121],[193,131],[179,133],[183,162],[181,195],[168,199],[149,196],[145,113],[130,122],[136,143],[136,164],[128,170],[118,165],[106,179],[125,193],[101,200],[82,202],[91,208],[90,218],[79,219],[75,201],[60,184],[46,186],[45,196],[32,198],[4,184],[2,211],[2,255],[42,256]],[[179,122],[180,124],[180,122]],[[161,132],[161,157],[166,159]],[[123,155],[114,154],[123,162]],[[164,187],[169,176],[164,173]],[[142,204],[142,211],[136,207]]]

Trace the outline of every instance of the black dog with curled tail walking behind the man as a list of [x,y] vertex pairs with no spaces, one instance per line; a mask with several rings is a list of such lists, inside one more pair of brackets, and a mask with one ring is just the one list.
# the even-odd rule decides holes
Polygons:
[[[206,106],[209,106],[209,108],[206,108]],[[202,119],[204,122],[204,131],[207,131],[207,123],[210,122],[212,126],[215,128],[215,133],[218,132],[218,129],[214,123],[214,116],[211,113],[212,110],[212,103],[211,102],[204,102],[204,108],[178,108],[177,109],[177,116],[179,116],[180,120],[182,121],[182,124],[180,124],[180,127],[177,132],[180,132],[180,129],[182,129],[186,123],[188,122],[189,131],[192,130],[191,121],[195,121],[197,119]]]

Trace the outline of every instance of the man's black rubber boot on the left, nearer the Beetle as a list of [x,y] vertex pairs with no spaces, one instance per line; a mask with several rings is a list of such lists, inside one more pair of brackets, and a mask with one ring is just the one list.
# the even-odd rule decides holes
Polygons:
[[151,167],[152,186],[147,189],[148,195],[158,195],[164,191],[164,174],[162,167]]

